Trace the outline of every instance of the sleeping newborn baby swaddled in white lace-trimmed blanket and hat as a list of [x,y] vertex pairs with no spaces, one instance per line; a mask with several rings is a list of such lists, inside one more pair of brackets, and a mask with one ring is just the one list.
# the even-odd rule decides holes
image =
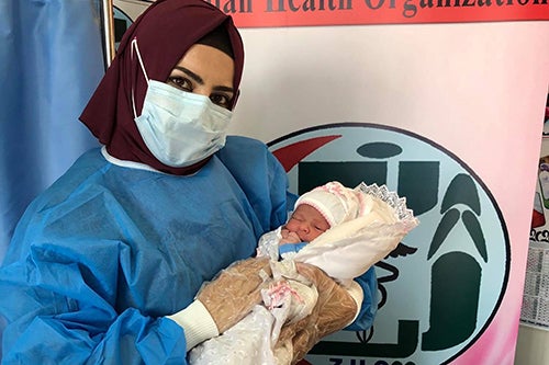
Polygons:
[[416,225],[405,199],[386,186],[361,183],[349,189],[329,182],[303,194],[287,224],[259,240],[257,255],[270,258],[272,271],[259,273],[265,275],[262,303],[222,335],[195,346],[190,363],[292,364],[292,341],[279,341],[280,332],[309,316],[318,297],[294,263],[322,269],[360,308],[362,289],[354,278],[389,254]]

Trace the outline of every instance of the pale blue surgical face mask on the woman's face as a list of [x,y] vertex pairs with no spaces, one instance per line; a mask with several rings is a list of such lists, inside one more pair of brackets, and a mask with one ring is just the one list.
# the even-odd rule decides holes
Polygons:
[[215,105],[210,98],[149,80],[137,48],[132,41],[141,67],[148,80],[142,114],[134,118],[145,145],[164,164],[188,167],[212,156],[225,146],[233,113]]

